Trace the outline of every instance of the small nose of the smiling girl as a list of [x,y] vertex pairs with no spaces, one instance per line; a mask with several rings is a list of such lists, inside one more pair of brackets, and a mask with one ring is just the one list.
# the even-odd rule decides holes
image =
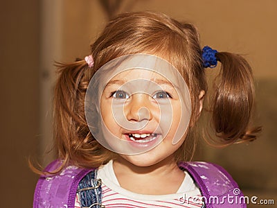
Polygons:
[[152,119],[153,104],[148,94],[133,94],[125,103],[125,115],[128,121],[143,121]]

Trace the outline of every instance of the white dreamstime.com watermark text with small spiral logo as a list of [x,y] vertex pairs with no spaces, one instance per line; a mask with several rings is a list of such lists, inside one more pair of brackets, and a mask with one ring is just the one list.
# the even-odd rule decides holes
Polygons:
[[240,189],[233,189],[233,194],[226,194],[225,196],[181,196],[179,198],[180,204],[183,205],[275,205],[274,199],[262,199],[258,196],[243,196],[240,194]]

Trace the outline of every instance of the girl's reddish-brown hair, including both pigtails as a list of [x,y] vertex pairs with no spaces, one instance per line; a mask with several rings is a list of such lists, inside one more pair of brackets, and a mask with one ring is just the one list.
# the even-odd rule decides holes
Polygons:
[[[134,53],[163,56],[186,80],[193,107],[191,128],[175,156],[180,161],[188,159],[185,158],[185,150],[193,153],[193,127],[199,116],[198,96],[201,90],[207,90],[197,29],[192,24],[180,23],[163,14],[132,12],[109,21],[91,45],[92,69],[84,60],[57,64],[60,76],[54,96],[54,139],[58,157],[64,161],[63,166],[71,163],[87,168],[98,167],[116,157],[91,135],[84,116],[84,96],[93,73],[103,64]],[[233,53],[217,53],[217,59],[222,63],[222,80],[215,88],[211,103],[217,136],[225,144],[238,139],[253,140],[256,129],[249,130],[253,108],[251,67],[244,58]]]

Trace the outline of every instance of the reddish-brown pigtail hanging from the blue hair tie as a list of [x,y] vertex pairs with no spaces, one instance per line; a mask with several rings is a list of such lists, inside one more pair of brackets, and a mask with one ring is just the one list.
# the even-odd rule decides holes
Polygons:
[[221,62],[221,79],[215,82],[213,125],[224,144],[253,141],[258,128],[250,128],[253,111],[253,75],[249,63],[234,53],[215,54]]

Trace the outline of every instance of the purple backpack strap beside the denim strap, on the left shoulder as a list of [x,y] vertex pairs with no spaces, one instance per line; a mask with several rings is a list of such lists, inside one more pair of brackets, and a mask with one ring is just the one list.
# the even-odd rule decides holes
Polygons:
[[[60,160],[55,160],[45,171],[54,171],[60,165]],[[42,175],[35,188],[33,208],[74,208],[78,184],[91,171],[77,166],[67,166],[57,175]]]

